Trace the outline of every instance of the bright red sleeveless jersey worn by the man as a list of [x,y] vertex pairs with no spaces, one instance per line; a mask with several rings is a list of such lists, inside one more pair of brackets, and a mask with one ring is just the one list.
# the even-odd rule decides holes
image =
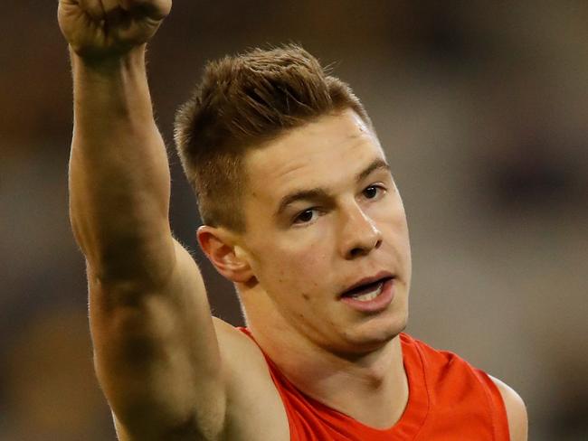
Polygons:
[[[251,333],[240,328],[251,338]],[[388,429],[367,427],[304,395],[266,356],[289,420],[291,441],[508,441],[507,412],[483,371],[451,352],[400,335],[409,399]]]

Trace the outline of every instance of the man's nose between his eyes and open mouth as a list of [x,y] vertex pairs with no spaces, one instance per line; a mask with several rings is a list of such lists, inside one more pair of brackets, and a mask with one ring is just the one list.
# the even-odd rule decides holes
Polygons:
[[341,254],[347,260],[368,255],[382,245],[382,232],[356,203],[344,211],[341,225]]

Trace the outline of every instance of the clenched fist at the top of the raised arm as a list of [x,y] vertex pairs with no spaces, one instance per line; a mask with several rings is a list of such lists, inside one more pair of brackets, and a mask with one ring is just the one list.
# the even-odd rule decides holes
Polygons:
[[149,41],[171,7],[172,0],[59,0],[58,19],[74,52],[100,60]]

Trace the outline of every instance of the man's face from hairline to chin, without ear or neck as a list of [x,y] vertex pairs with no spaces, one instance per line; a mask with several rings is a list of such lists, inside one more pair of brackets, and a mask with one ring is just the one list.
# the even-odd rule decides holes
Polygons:
[[411,279],[406,216],[361,118],[346,110],[291,130],[248,153],[245,170],[242,249],[256,296],[271,305],[255,319],[337,352],[371,351],[400,333]]

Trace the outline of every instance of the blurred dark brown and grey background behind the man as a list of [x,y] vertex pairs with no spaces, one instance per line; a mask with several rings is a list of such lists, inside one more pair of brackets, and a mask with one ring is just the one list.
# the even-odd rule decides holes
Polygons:
[[[57,2],[0,16],[0,439],[114,439],[68,220],[71,78]],[[530,439],[588,439],[588,3],[175,2],[149,51],[159,127],[204,62],[299,42],[375,122],[413,240],[408,331],[526,400]],[[175,153],[171,218],[194,253]],[[232,286],[200,254],[217,314]]]

